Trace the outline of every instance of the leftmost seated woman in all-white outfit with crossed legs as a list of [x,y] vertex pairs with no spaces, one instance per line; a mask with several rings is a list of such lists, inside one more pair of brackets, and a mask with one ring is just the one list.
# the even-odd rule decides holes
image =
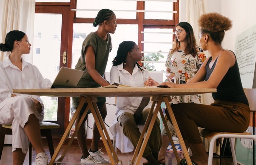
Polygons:
[[44,105],[39,96],[13,94],[12,89],[50,88],[36,66],[26,62],[21,55],[29,54],[31,44],[27,35],[18,30],[7,33],[1,51],[10,55],[0,61],[0,124],[11,125],[13,165],[22,165],[29,142],[36,150],[36,165],[47,165],[39,122],[44,119]]

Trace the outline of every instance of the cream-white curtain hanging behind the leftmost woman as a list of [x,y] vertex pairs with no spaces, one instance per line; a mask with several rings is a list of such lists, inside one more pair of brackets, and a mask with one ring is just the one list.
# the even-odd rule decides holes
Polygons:
[[[4,43],[6,34],[11,30],[20,30],[27,34],[29,42],[33,45],[35,0],[1,0],[0,42]],[[0,61],[10,52],[0,52]],[[22,55],[28,61],[33,62],[33,51],[29,55]]]

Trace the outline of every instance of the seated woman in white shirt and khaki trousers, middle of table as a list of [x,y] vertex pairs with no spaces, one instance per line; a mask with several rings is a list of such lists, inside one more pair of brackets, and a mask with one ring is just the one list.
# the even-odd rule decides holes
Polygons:
[[[117,56],[110,71],[111,84],[143,87],[149,73],[137,61],[141,59],[138,45],[133,41],[120,43]],[[144,125],[151,107],[150,97],[117,97],[116,116],[123,128],[123,133],[134,147],[140,137],[136,124]],[[157,157],[161,147],[161,130],[159,119],[156,120],[149,137],[143,157],[152,165],[158,165]]]

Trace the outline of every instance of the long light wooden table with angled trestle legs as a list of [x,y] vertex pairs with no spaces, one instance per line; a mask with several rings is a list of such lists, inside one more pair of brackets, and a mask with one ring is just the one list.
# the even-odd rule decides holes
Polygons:
[[[152,96],[153,104],[150,109],[148,118],[146,120],[144,130],[141,133],[139,143],[135,149],[131,164],[135,164],[135,165],[139,164],[140,159],[145,150],[147,141],[149,139],[149,135],[152,131],[154,122],[156,120],[158,111],[161,115],[164,126],[166,128],[167,135],[171,141],[171,144],[173,145],[172,147],[174,149],[177,162],[180,163],[180,158],[177,155],[175,146],[172,141],[171,133],[167,127],[163,112],[161,110],[161,103],[164,102],[167,107],[168,113],[171,117],[172,124],[174,126],[174,130],[177,134],[177,137],[179,138],[180,145],[183,149],[184,156],[185,156],[188,164],[192,165],[189,154],[188,154],[187,150],[185,149],[186,146],[185,146],[184,140],[181,136],[181,132],[179,130],[179,127],[177,125],[173,111],[169,104],[169,101],[171,99],[170,96],[194,95],[194,94],[212,93],[212,92],[216,92],[216,91],[217,91],[216,89],[183,89],[183,88],[157,88],[157,87],[13,89],[13,93],[28,94],[28,95],[52,96],[52,97],[79,97],[80,96],[79,106],[77,107],[73,118],[71,119],[70,123],[68,124],[68,126],[65,130],[65,133],[63,134],[61,141],[58,144],[49,165],[52,165],[55,162],[55,160],[62,161],[62,159],[64,158],[68,148],[70,147],[70,145],[74,139],[74,136],[77,132],[76,130],[74,131],[73,136],[70,138],[70,141],[68,142],[62,155],[58,156],[58,158],[57,158],[57,155],[60,152],[60,149],[61,149],[63,143],[65,142],[65,139],[66,139],[68,133],[70,132],[70,129],[73,126],[75,119],[79,115],[80,110],[85,102],[88,103],[88,106],[86,107],[84,114],[82,115],[82,118],[78,125],[80,126],[82,124],[82,120],[84,119],[86,113],[88,112],[88,110],[90,108],[92,115],[94,117],[94,120],[95,120],[95,124],[97,125],[97,127],[99,129],[103,144],[104,144],[106,151],[108,153],[108,156],[110,158],[111,164],[112,165],[122,164],[122,162],[118,159],[117,154],[112,146],[111,139],[108,135],[107,129],[104,125],[103,119],[102,119],[99,109],[97,107],[96,97],[99,97],[99,96],[101,96],[101,97],[102,96],[103,97]],[[155,105],[156,105],[156,109],[153,110]],[[145,132],[146,132],[146,135],[143,140],[143,136],[144,136]]]

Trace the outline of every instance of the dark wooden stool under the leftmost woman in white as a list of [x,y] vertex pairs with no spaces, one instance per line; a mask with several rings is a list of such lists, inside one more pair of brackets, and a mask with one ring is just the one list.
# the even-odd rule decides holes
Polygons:
[[[51,129],[59,128],[59,127],[60,127],[60,125],[58,125],[56,123],[51,123],[51,122],[42,122],[40,124],[41,135],[46,137],[51,157],[54,154]],[[1,160],[1,156],[2,156],[5,135],[12,135],[11,125],[1,125],[0,124],[0,160]],[[31,143],[29,143],[29,165],[31,165],[31,163],[32,163],[31,160],[32,160],[32,145],[31,145]]]

